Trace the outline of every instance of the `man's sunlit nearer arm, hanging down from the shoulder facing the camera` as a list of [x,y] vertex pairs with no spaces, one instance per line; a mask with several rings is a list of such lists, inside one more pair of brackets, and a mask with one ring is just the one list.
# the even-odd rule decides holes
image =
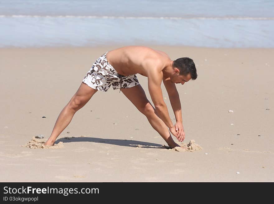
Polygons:
[[178,134],[176,133],[175,126],[173,125],[169,117],[167,105],[163,100],[163,93],[161,89],[163,72],[160,71],[160,69],[154,67],[149,68],[147,72],[149,94],[151,96],[152,102],[154,103],[155,110],[157,111],[158,116],[168,126],[170,132],[177,138]]

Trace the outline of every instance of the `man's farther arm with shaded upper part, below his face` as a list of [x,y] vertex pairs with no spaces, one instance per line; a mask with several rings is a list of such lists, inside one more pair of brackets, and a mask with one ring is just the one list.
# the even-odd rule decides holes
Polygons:
[[182,124],[182,108],[181,108],[179,93],[177,91],[175,84],[172,83],[170,79],[169,80],[163,79],[163,83],[168,92],[169,101],[176,118],[175,129],[176,131],[177,130],[179,131],[178,140],[182,142],[185,139],[185,132]]

